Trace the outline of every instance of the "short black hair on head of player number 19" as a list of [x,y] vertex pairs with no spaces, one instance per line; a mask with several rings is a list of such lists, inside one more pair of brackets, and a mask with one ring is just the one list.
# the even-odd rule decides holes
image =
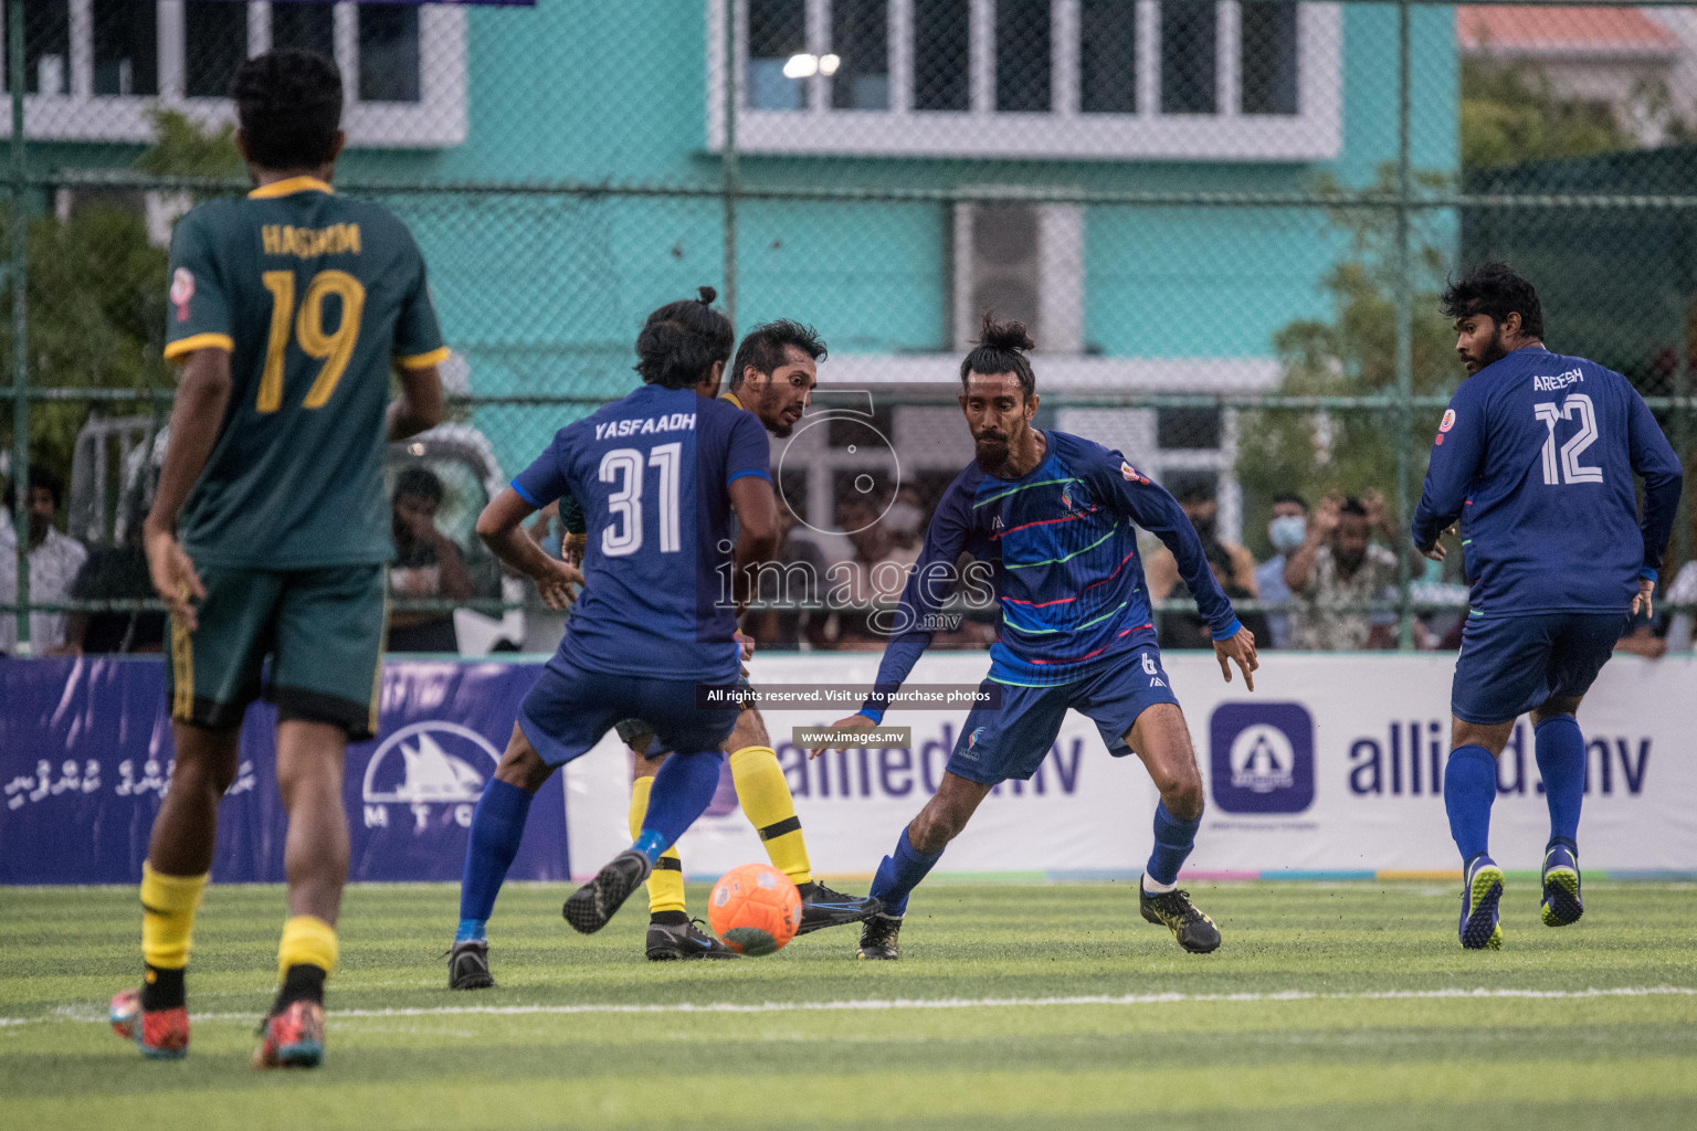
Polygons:
[[256,54],[231,83],[248,159],[266,170],[314,170],[336,156],[341,71],[316,51]]

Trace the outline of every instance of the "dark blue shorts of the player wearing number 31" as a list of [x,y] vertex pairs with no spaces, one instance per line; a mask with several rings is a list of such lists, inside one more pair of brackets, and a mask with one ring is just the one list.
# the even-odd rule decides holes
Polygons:
[[562,766],[589,751],[621,719],[641,719],[667,749],[718,751],[736,707],[696,705],[704,680],[597,675],[555,660],[519,705],[519,729],[541,760]]

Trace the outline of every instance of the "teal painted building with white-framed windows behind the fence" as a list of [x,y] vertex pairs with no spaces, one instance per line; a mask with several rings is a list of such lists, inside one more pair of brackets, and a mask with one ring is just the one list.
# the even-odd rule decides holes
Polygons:
[[[1052,393],[1269,388],[1274,332],[1327,314],[1319,283],[1342,246],[1324,212],[1091,195],[1302,193],[1366,185],[1397,156],[1386,3],[29,7],[27,129],[49,142],[37,163],[127,163],[156,103],[227,119],[216,93],[246,54],[333,53],[350,86],[343,180],[443,188],[385,198],[424,244],[484,395],[618,395],[643,315],[699,283],[725,288],[726,39],[738,176],[798,193],[736,207],[738,320],[818,326],[821,378],[855,387],[949,382],[996,307],[1033,324]],[[1451,175],[1454,15],[1409,19],[1414,166]],[[799,198],[820,188],[865,195]],[[560,421],[558,407],[494,407],[477,424],[512,468]],[[1062,426],[1147,449],[1157,475],[1230,463],[1229,426],[1186,449],[1162,446],[1142,410]],[[935,449],[938,466],[957,456]]]

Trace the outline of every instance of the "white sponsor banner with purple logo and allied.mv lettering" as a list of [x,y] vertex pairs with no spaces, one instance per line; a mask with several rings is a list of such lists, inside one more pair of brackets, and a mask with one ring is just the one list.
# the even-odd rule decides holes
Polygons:
[[[871,682],[877,655],[755,656],[753,682]],[[1453,655],[1264,653],[1256,692],[1220,678],[1210,655],[1162,658],[1185,707],[1208,812],[1191,873],[1454,872],[1444,816]],[[983,655],[925,656],[915,682],[974,685]],[[1689,695],[1697,661],[1617,656],[1580,712],[1588,788],[1580,826],[1588,868],[1697,870],[1697,760]],[[869,873],[937,788],[961,741],[964,710],[891,710],[906,749],[832,751],[808,760],[794,727],[850,710],[769,710],[765,726],[796,794],[813,865]],[[608,739],[567,768],[572,861],[592,870],[630,843],[630,760]],[[940,872],[1122,873],[1142,870],[1156,790],[1135,758],[1112,758],[1096,727],[1069,714],[1039,773],[994,790],[950,844]],[[1531,724],[1498,763],[1492,853],[1509,868],[1541,863],[1549,833]],[[764,860],[730,783],[679,851],[691,875]]]

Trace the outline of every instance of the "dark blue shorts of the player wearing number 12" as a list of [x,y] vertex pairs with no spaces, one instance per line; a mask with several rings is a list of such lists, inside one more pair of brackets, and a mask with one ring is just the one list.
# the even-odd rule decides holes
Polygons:
[[1468,617],[1449,710],[1463,722],[1495,726],[1556,695],[1583,695],[1624,627],[1624,612]]

